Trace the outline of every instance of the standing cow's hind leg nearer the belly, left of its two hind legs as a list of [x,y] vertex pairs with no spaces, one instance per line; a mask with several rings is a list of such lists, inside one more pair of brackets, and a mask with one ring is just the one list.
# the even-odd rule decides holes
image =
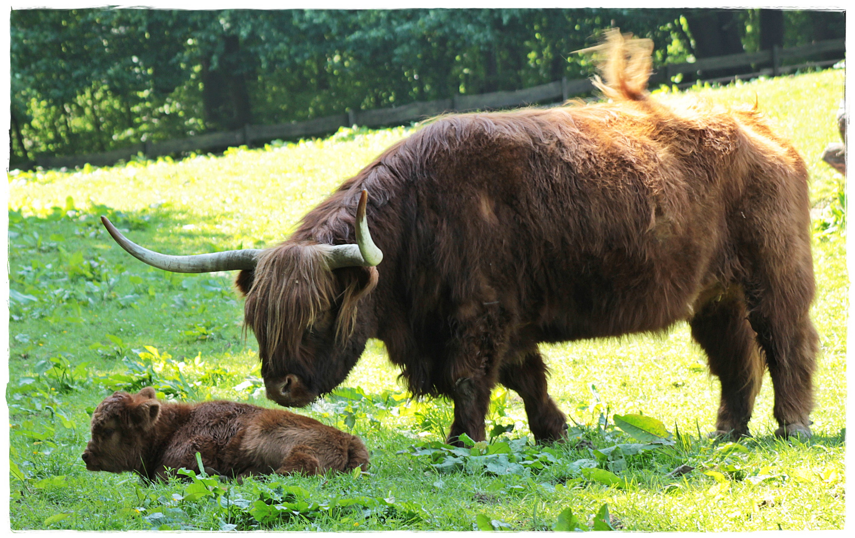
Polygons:
[[716,436],[748,436],[754,398],[763,383],[763,362],[745,302],[734,289],[710,301],[690,321],[692,336],[707,354],[710,370],[722,383]]

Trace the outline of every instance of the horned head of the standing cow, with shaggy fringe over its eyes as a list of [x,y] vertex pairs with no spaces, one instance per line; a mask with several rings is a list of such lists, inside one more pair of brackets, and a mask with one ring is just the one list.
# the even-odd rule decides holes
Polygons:
[[271,249],[168,256],[131,243],[102,217],[121,247],[151,266],[173,272],[240,269],[245,327],[258,340],[268,398],[305,406],[345,380],[368,338],[356,324],[357,303],[377,284],[383,253],[369,233],[363,190],[356,244],[286,242]]

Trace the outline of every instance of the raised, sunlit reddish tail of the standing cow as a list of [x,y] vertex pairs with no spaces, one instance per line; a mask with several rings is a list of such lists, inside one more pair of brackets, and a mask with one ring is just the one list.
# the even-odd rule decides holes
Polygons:
[[[594,52],[599,75],[593,85],[614,101],[645,101],[653,52],[651,39],[633,38],[618,28],[605,31],[602,44],[576,52]],[[601,77],[601,76],[602,77]]]

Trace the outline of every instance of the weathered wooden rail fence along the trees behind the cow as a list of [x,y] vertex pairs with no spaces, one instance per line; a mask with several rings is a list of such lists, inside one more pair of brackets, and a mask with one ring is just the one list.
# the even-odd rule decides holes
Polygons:
[[[705,79],[705,73],[720,71],[722,69],[734,70],[734,68],[740,68],[743,71],[747,68],[749,70],[747,73],[750,73],[748,76],[758,76],[760,74],[776,76],[791,71],[794,68],[828,66],[837,60],[802,63],[797,66],[785,65],[785,61],[823,53],[840,53],[838,56],[842,59],[845,52],[846,43],[844,39],[830,39],[790,49],[775,47],[772,50],[762,50],[760,52],[702,58],[692,63],[676,63],[664,66],[663,69],[659,70],[659,73],[654,73],[651,77],[651,85],[669,84],[672,77],[678,73],[683,73],[689,77],[697,77],[697,79]],[[770,67],[765,69],[759,68],[760,66],[769,66],[769,64]],[[738,76],[730,75],[714,80],[724,81],[737,78]],[[709,77],[706,77],[706,79],[709,79]],[[145,155],[146,157],[156,157],[190,151],[225,149],[242,144],[251,145],[255,142],[266,142],[277,138],[293,140],[300,137],[319,136],[336,132],[341,126],[392,126],[410,121],[423,120],[446,112],[491,110],[528,106],[536,103],[563,102],[571,96],[583,95],[592,90],[593,85],[589,79],[562,79],[524,90],[494,91],[492,93],[471,96],[457,95],[451,99],[411,102],[410,104],[394,108],[350,111],[347,114],[336,114],[316,120],[295,121],[278,125],[247,125],[236,131],[211,132],[196,137],[178,138],[163,142],[135,143],[126,148],[115,149],[104,153],[56,157],[37,156],[36,164],[45,168],[77,167],[87,162],[94,166],[109,166],[116,161],[127,160],[138,154]]]

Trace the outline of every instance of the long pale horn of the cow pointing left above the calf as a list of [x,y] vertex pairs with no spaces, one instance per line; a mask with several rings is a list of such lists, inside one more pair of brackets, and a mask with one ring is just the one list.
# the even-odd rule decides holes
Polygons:
[[113,236],[116,243],[122,249],[127,250],[137,260],[143,261],[150,266],[171,272],[215,272],[235,271],[238,269],[255,269],[259,249],[227,250],[211,254],[194,254],[192,256],[170,256],[160,254],[153,250],[144,249],[137,243],[133,243],[121,232],[115,229],[107,217],[101,217],[101,222]]

